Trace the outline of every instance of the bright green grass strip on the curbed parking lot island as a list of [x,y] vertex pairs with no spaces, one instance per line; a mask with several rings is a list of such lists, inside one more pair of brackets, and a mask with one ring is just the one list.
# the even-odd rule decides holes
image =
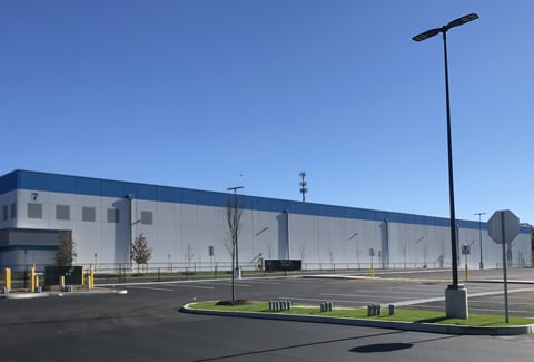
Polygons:
[[395,322],[411,322],[411,323],[438,323],[438,324],[454,324],[465,326],[506,326],[506,325],[527,325],[534,324],[534,320],[523,316],[510,316],[510,323],[506,324],[504,315],[493,314],[469,314],[468,320],[447,319],[444,312],[422,311],[422,310],[406,310],[396,309],[395,315],[388,315],[388,311],[382,311],[380,316],[367,316],[367,309],[347,309],[334,307],[332,312],[320,312],[318,305],[293,304],[291,311],[269,312],[269,304],[267,302],[250,301],[247,305],[216,305],[217,302],[199,302],[190,304],[195,310],[216,310],[216,311],[233,311],[233,312],[259,312],[259,313],[286,313],[299,315],[320,315],[348,319],[368,319],[378,321],[395,321]]

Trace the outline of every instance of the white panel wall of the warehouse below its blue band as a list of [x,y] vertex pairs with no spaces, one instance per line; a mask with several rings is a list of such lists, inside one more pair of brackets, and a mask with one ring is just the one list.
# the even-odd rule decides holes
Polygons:
[[[209,246],[214,246],[214,262],[229,262],[225,245],[228,239],[224,207],[178,204],[155,200],[132,200],[132,218],[129,219],[129,202],[126,198],[86,196],[13,190],[0,195],[0,205],[17,202],[17,218],[3,222],[0,227],[72,229],[77,247],[77,262],[125,263],[129,260],[130,227],[132,238],[139,233],[148,238],[152,247],[152,263],[171,262],[208,263]],[[42,204],[42,218],[28,218],[28,203]],[[56,206],[70,206],[70,221],[56,218]],[[96,208],[96,222],[83,222],[82,206]],[[108,223],[107,209],[118,208],[119,223]],[[152,213],[152,224],[138,223],[141,212]],[[388,223],[387,244],[384,243],[384,221],[328,217],[305,214],[287,214],[244,209],[243,228],[239,236],[239,261],[249,263],[261,254],[264,258],[301,258],[306,263],[358,263],[367,267],[372,261],[369,250],[375,250],[373,262],[380,266],[378,252],[388,246],[390,267],[428,267],[451,265],[449,228],[423,224]],[[289,237],[287,233],[289,227]],[[502,248],[486,231],[482,231],[483,262],[485,267],[502,266]],[[471,244],[467,262],[471,268],[479,264],[479,233],[477,228],[461,228],[458,245]],[[11,254],[2,254],[2,263]],[[8,256],[7,256],[8,255]],[[14,255],[14,254],[13,254]],[[459,266],[464,267],[465,256],[458,248]],[[14,256],[13,256],[14,257]],[[441,262],[443,261],[443,262]],[[511,266],[531,265],[530,235],[522,233],[512,243]]]

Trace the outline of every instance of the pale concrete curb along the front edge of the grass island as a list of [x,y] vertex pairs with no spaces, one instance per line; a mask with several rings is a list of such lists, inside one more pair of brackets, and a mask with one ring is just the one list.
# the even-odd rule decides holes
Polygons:
[[431,332],[443,334],[461,334],[461,335],[521,335],[533,334],[534,324],[520,326],[462,326],[452,324],[435,324],[435,323],[412,323],[412,322],[390,322],[377,320],[358,320],[345,319],[336,316],[315,316],[315,315],[298,315],[298,314],[283,314],[283,313],[257,313],[257,312],[225,312],[214,310],[194,310],[189,303],[180,309],[180,312],[204,315],[217,316],[234,316],[234,317],[253,317],[260,320],[278,320],[278,321],[294,321],[294,322],[312,322],[312,323],[329,323],[340,325],[355,326],[370,326],[390,330],[403,330],[414,332]]

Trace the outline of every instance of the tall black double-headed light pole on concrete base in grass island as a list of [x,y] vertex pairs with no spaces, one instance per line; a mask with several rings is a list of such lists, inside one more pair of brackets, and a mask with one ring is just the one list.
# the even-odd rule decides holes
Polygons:
[[[441,28],[434,28],[422,32],[412,39],[415,41],[423,41],[434,36],[437,36],[439,32],[443,35],[443,52],[445,58],[445,100],[446,100],[446,109],[447,109],[447,148],[448,148],[448,194],[449,194],[449,207],[451,207],[451,251],[452,251],[452,262],[453,262],[453,284],[448,285],[447,291],[456,291],[456,290],[464,290],[463,285],[458,285],[458,261],[457,261],[457,251],[456,251],[456,233],[455,233],[455,225],[456,225],[456,217],[454,212],[454,178],[453,178],[453,143],[452,143],[452,133],[451,133],[451,101],[448,95],[448,63],[447,63],[447,31],[452,28],[459,27],[464,23],[478,19],[476,13],[469,13],[465,17],[458,18],[456,20],[451,21],[446,26]],[[445,304],[447,309],[447,315],[457,315],[458,317],[467,317],[467,292],[465,292],[465,311],[453,311],[453,304],[457,304],[456,296],[452,296],[454,294],[451,293],[451,303],[447,303],[447,292],[445,295]],[[463,299],[463,296],[462,296]],[[454,302],[453,302],[454,300]]]

